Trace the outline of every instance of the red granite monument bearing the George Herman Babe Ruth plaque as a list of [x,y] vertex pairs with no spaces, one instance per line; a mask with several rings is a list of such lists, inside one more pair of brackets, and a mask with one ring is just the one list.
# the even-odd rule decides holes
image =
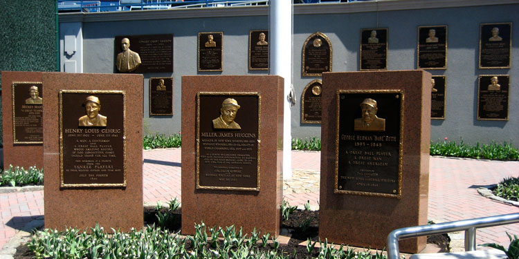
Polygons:
[[[383,249],[388,234],[427,224],[431,75],[324,73],[319,237]],[[417,253],[426,238],[402,240]]]

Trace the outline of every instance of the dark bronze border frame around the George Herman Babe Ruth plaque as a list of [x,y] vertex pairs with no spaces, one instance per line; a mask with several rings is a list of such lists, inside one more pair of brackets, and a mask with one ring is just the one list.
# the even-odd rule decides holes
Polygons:
[[[398,179],[398,193],[390,194],[390,193],[372,193],[367,191],[346,191],[338,189],[338,167],[339,167],[339,121],[340,121],[340,94],[361,94],[361,93],[397,93],[400,94],[400,140],[399,140],[399,179]],[[387,198],[402,198],[402,169],[403,169],[403,115],[404,115],[404,104],[405,104],[405,91],[403,89],[386,89],[386,90],[344,90],[340,89],[336,91],[336,135],[335,135],[335,159],[334,159],[334,193],[342,193],[342,194],[353,194],[353,195],[365,195],[365,196],[377,196],[377,197],[387,197]]]

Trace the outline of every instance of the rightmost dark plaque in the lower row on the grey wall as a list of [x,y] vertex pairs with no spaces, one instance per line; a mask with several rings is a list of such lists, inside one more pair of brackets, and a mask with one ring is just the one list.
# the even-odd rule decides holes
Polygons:
[[480,75],[477,87],[477,119],[508,120],[509,75]]

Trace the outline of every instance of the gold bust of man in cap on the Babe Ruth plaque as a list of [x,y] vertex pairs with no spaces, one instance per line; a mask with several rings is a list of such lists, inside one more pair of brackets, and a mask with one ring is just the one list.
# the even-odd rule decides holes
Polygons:
[[385,131],[385,119],[376,117],[376,101],[371,98],[361,102],[362,117],[355,119],[355,131]]

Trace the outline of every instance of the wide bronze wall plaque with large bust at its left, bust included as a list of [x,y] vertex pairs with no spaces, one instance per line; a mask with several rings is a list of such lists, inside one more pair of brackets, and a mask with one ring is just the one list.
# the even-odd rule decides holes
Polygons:
[[117,73],[173,72],[173,35],[117,36]]

